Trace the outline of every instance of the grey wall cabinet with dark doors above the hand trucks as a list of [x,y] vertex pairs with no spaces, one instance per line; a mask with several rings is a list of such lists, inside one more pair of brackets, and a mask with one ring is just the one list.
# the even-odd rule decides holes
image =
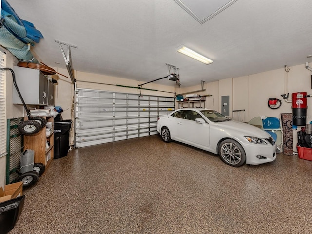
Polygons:
[[[54,83],[39,69],[13,67],[16,84],[20,94],[28,105],[54,106]],[[22,104],[20,96],[13,86],[13,104]]]

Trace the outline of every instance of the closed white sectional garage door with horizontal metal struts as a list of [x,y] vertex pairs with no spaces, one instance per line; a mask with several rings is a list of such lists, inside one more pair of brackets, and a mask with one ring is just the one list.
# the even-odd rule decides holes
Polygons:
[[157,134],[158,116],[174,109],[174,97],[77,89],[75,148]]

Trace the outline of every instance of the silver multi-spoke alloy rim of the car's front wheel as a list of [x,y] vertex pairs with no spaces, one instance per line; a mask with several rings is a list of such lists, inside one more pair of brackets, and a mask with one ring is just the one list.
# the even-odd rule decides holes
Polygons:
[[221,146],[220,154],[224,161],[230,165],[237,165],[242,159],[240,149],[231,142],[227,142]]

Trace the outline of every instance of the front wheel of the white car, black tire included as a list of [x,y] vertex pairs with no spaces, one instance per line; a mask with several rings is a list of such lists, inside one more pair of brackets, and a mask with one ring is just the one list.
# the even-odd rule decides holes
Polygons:
[[233,167],[240,167],[246,161],[246,153],[243,147],[232,139],[226,139],[221,142],[219,155],[223,162]]

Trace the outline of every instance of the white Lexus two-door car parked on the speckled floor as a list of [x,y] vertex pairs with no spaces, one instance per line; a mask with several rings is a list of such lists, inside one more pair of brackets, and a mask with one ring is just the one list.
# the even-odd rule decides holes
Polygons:
[[175,110],[158,117],[157,132],[164,142],[176,140],[219,154],[222,161],[234,167],[276,159],[276,143],[268,132],[214,110]]

